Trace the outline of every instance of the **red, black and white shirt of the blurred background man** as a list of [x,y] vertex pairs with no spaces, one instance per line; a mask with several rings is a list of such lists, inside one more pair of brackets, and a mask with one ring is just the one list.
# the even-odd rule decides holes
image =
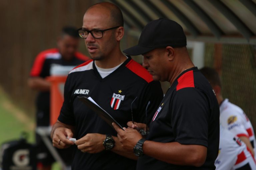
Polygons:
[[[42,77],[46,78],[53,74],[54,69],[66,73],[66,70],[71,70],[79,64],[89,60],[88,57],[82,53],[75,52],[74,57],[70,61],[66,61],[62,58],[57,48],[51,48],[40,52],[34,61],[33,67],[30,72],[30,77]],[[68,72],[66,73],[68,74]],[[38,93],[36,99],[37,126],[49,126],[50,125],[50,92]]]

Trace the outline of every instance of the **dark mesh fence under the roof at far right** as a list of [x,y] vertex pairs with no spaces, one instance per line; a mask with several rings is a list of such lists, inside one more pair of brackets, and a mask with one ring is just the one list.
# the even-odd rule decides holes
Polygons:
[[256,52],[245,44],[207,43],[205,66],[220,73],[222,94],[243,109],[256,129]]

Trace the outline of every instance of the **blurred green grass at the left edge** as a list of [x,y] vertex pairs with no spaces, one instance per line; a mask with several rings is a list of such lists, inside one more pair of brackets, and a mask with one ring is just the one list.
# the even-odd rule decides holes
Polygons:
[[[35,143],[34,119],[17,108],[0,88],[0,145],[6,141],[19,139],[22,132],[28,133],[29,143]],[[58,163],[53,164],[52,170],[60,169]]]

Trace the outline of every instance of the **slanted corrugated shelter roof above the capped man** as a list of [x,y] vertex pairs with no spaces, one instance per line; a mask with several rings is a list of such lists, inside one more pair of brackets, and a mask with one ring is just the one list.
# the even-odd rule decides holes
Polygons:
[[108,0],[130,34],[158,18],[178,22],[190,41],[256,44],[256,0]]

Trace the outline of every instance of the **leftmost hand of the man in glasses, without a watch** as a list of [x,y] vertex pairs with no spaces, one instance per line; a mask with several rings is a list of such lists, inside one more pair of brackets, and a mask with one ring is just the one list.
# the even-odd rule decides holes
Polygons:
[[67,137],[72,138],[73,132],[69,128],[58,127],[53,132],[52,143],[54,147],[59,149],[64,149],[69,147],[70,145],[75,144],[70,141]]

